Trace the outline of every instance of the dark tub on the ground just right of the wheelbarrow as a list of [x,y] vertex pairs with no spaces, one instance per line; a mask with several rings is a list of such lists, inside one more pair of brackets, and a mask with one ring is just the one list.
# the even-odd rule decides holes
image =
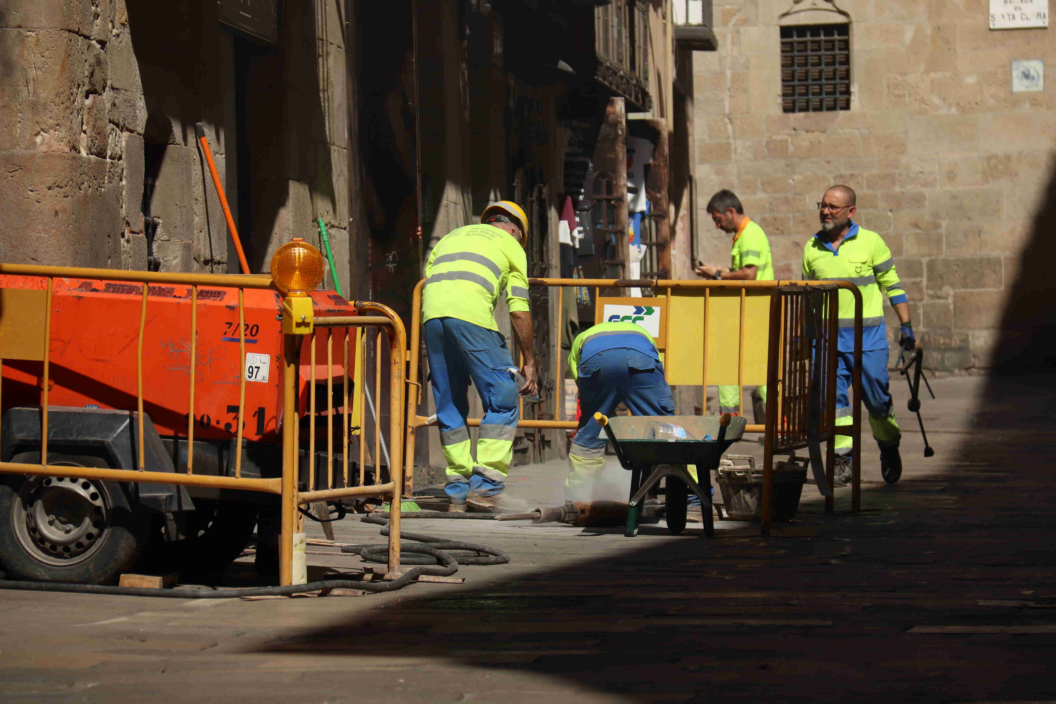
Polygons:
[[[734,465],[729,460],[747,459],[748,465]],[[762,470],[755,469],[754,458],[731,455],[715,471],[715,479],[722,492],[722,502],[730,520],[759,520],[762,512]],[[795,461],[774,463],[774,491],[771,516],[787,522],[799,510],[799,496],[807,481],[807,470]]]

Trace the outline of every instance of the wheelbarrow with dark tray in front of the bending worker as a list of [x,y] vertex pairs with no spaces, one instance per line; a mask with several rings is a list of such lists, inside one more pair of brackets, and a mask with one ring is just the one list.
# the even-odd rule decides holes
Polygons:
[[[665,489],[667,529],[679,534],[685,530],[689,492],[700,497],[704,536],[715,534],[712,518],[711,473],[718,469],[722,453],[740,440],[748,423],[743,417],[731,416],[612,416],[595,414],[595,420],[605,430],[605,435],[616,457],[625,470],[630,471],[630,498],[627,509],[627,529],[624,535],[638,535],[645,494],[660,479],[667,477]],[[671,423],[685,430],[685,439],[655,439],[654,422]],[[701,439],[697,439],[701,438]],[[689,473],[685,465],[697,465],[697,477],[708,477],[708,490]],[[649,473],[650,472],[650,473]],[[649,473],[646,476],[646,473]],[[644,479],[643,479],[644,477]]]

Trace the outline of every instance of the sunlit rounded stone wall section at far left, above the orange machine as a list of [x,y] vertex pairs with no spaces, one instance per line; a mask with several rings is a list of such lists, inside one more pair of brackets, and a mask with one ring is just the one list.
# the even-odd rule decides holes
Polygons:
[[[119,268],[142,250],[146,266],[146,110],[128,40],[119,0],[4,3],[0,261]],[[126,151],[137,174],[126,173]]]

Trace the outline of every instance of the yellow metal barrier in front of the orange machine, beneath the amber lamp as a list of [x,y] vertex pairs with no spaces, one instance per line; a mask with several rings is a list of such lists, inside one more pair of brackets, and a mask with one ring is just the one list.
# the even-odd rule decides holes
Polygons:
[[[295,565],[295,540],[300,538],[303,546],[303,518],[301,517],[298,508],[301,505],[310,503],[313,501],[321,501],[327,499],[340,499],[352,496],[378,496],[382,498],[389,498],[390,500],[397,502],[402,493],[403,484],[403,473],[402,473],[402,449],[403,449],[403,363],[406,356],[406,342],[407,337],[403,329],[403,324],[399,317],[396,316],[390,308],[371,302],[356,302],[354,306],[359,311],[364,311],[369,313],[377,315],[360,315],[360,316],[347,316],[341,318],[316,318],[314,321],[314,326],[316,328],[323,328],[326,335],[326,355],[327,355],[327,411],[326,415],[329,421],[329,430],[327,432],[327,473],[325,477],[325,482],[323,482],[322,488],[317,488],[317,482],[315,478],[315,421],[317,417],[317,410],[315,407],[315,395],[316,395],[316,366],[315,366],[315,343],[318,332],[313,329],[312,306],[305,304],[303,301],[294,301],[291,299],[285,299],[283,301],[283,310],[298,310],[304,311],[306,313],[302,315],[301,319],[295,323],[290,323],[291,328],[301,328],[297,331],[307,331],[308,335],[302,334],[282,334],[282,354],[280,359],[280,366],[282,368],[282,376],[280,382],[280,391],[283,399],[282,405],[282,416],[279,421],[281,425],[281,442],[282,442],[282,468],[281,476],[276,478],[256,478],[256,477],[243,477],[242,476],[242,464],[243,464],[243,454],[241,451],[242,436],[243,436],[243,418],[244,412],[246,410],[246,322],[245,322],[245,291],[249,289],[275,289],[270,277],[262,275],[229,275],[229,274],[187,274],[187,273],[161,273],[161,272],[143,272],[143,271],[126,271],[126,270],[112,270],[112,269],[90,269],[90,268],[79,268],[79,267],[43,267],[43,266],[30,266],[30,265],[13,265],[13,264],[0,264],[0,275],[8,274],[16,277],[35,277],[42,278],[44,280],[43,284],[43,296],[42,296],[42,313],[43,313],[43,329],[40,330],[42,336],[42,350],[40,357],[35,357],[34,351],[31,350],[27,356],[19,357],[19,359],[37,359],[43,363],[43,372],[40,379],[40,411],[41,411],[41,423],[40,423],[40,463],[24,463],[24,462],[0,462],[0,474],[17,474],[17,475],[31,475],[31,476],[56,476],[56,477],[75,477],[84,479],[96,479],[96,480],[112,480],[112,481],[125,481],[125,482],[150,482],[150,483],[167,483],[175,486],[187,486],[187,487],[206,487],[212,489],[223,489],[223,490],[247,490],[256,492],[264,492],[268,494],[279,495],[281,497],[281,536],[279,543],[279,562],[280,562],[280,583],[282,585],[290,585],[303,583],[304,576],[304,565]],[[142,419],[146,416],[144,410],[144,337],[145,330],[147,328],[148,321],[148,299],[153,293],[152,285],[161,284],[172,284],[180,286],[189,287],[188,298],[190,300],[190,342],[189,342],[189,364],[188,364],[188,401],[189,401],[189,413],[187,419],[187,469],[186,473],[168,473],[168,472],[153,472],[146,471],[146,459],[145,459],[145,436],[144,436],[144,422],[136,421],[137,425],[137,469],[110,469],[110,468],[83,468],[83,467],[67,467],[67,465],[56,465],[49,464],[48,453],[49,453],[49,391],[52,386],[51,380],[51,356],[52,347],[55,344],[61,343],[61,340],[57,339],[53,335],[52,322],[53,322],[53,301],[52,296],[55,290],[56,280],[70,280],[70,279],[81,279],[81,280],[100,280],[102,282],[128,282],[133,286],[138,286],[140,288],[139,296],[142,297],[142,303],[139,305],[138,315],[138,332],[136,336],[136,399],[135,399],[135,412],[137,414],[137,419]],[[235,416],[235,448],[239,449],[235,452],[234,457],[234,468],[233,476],[219,476],[210,474],[195,474],[194,472],[194,426],[195,426],[195,380],[197,376],[197,365],[201,363],[197,354],[197,335],[199,335],[199,293],[200,288],[211,287],[211,288],[233,288],[238,291],[238,325],[239,325],[239,402],[238,402],[238,415]],[[21,289],[4,289],[4,291],[16,291],[16,294],[12,294],[13,299],[19,300],[32,300],[36,301],[36,296],[23,296],[23,293],[34,293],[34,291],[24,291]],[[295,305],[297,304],[297,305]],[[116,326],[115,326],[116,327]],[[384,483],[376,483],[374,486],[363,486],[365,481],[365,473],[362,462],[362,452],[364,442],[360,442],[360,472],[359,472],[359,486],[350,486],[348,477],[348,450],[350,450],[350,434],[354,432],[361,432],[361,412],[362,412],[362,397],[366,392],[365,384],[357,384],[356,393],[359,396],[358,401],[358,412],[360,413],[359,421],[356,420],[356,415],[348,407],[348,355],[350,355],[350,337],[351,330],[355,330],[356,340],[356,361],[357,361],[357,377],[361,377],[361,367],[364,362],[364,355],[360,349],[360,342],[364,339],[363,330],[367,327],[378,328],[377,338],[380,339],[380,330],[383,328],[389,339],[389,358],[390,358],[390,446],[392,448],[392,457],[390,462],[390,477],[389,481]],[[344,449],[344,471],[341,481],[335,480],[333,472],[333,453],[334,453],[334,417],[337,415],[334,408],[334,395],[333,395],[333,335],[334,330],[344,328],[343,341],[344,341],[344,357],[343,357],[343,367],[344,367],[344,392],[343,399],[344,403],[341,407],[341,427],[343,434],[343,449]],[[7,332],[7,330],[4,330]],[[298,380],[299,365],[300,365],[300,348],[302,342],[305,338],[309,338],[309,344],[312,344],[312,365],[309,373],[309,407],[307,408],[307,416],[309,418],[309,439],[312,441],[312,446],[308,451],[309,457],[309,489],[310,491],[300,491],[299,488],[299,420],[305,414],[302,413],[302,408],[299,405],[299,389],[300,383]],[[2,366],[3,360],[0,360],[0,379],[2,379]],[[378,377],[380,379],[380,376]],[[147,380],[149,382],[149,380]],[[380,388],[376,389],[375,399],[378,398],[380,394]],[[232,404],[233,406],[233,404]],[[263,408],[261,408],[263,411]],[[357,423],[356,427],[353,427],[353,423]],[[375,444],[380,440],[380,429],[375,425]],[[361,439],[365,437],[361,435]],[[380,462],[378,461],[378,456],[375,454],[375,477],[379,477],[380,473]],[[391,573],[399,572],[399,512],[392,512],[391,517],[392,531],[389,538],[389,570]],[[300,551],[300,555],[303,556],[303,550]]]

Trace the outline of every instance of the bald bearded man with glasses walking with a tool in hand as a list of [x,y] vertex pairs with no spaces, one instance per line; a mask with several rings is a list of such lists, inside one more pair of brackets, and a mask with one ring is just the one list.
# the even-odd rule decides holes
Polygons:
[[[902,476],[899,441],[902,434],[894,419],[888,392],[887,328],[884,325],[884,293],[902,323],[900,344],[905,349],[916,345],[909,321],[906,291],[894,270],[891,250],[883,237],[862,228],[852,218],[854,191],[833,186],[817,204],[822,229],[804,247],[803,278],[818,281],[850,281],[862,292],[862,399],[869,411],[872,437],[880,445],[880,471],[884,479],[895,482]],[[883,289],[881,288],[883,287]],[[854,351],[854,299],[850,291],[840,291],[838,370],[836,376],[836,425],[851,423],[850,398]],[[851,478],[851,438],[836,436],[835,484],[845,487]]]

